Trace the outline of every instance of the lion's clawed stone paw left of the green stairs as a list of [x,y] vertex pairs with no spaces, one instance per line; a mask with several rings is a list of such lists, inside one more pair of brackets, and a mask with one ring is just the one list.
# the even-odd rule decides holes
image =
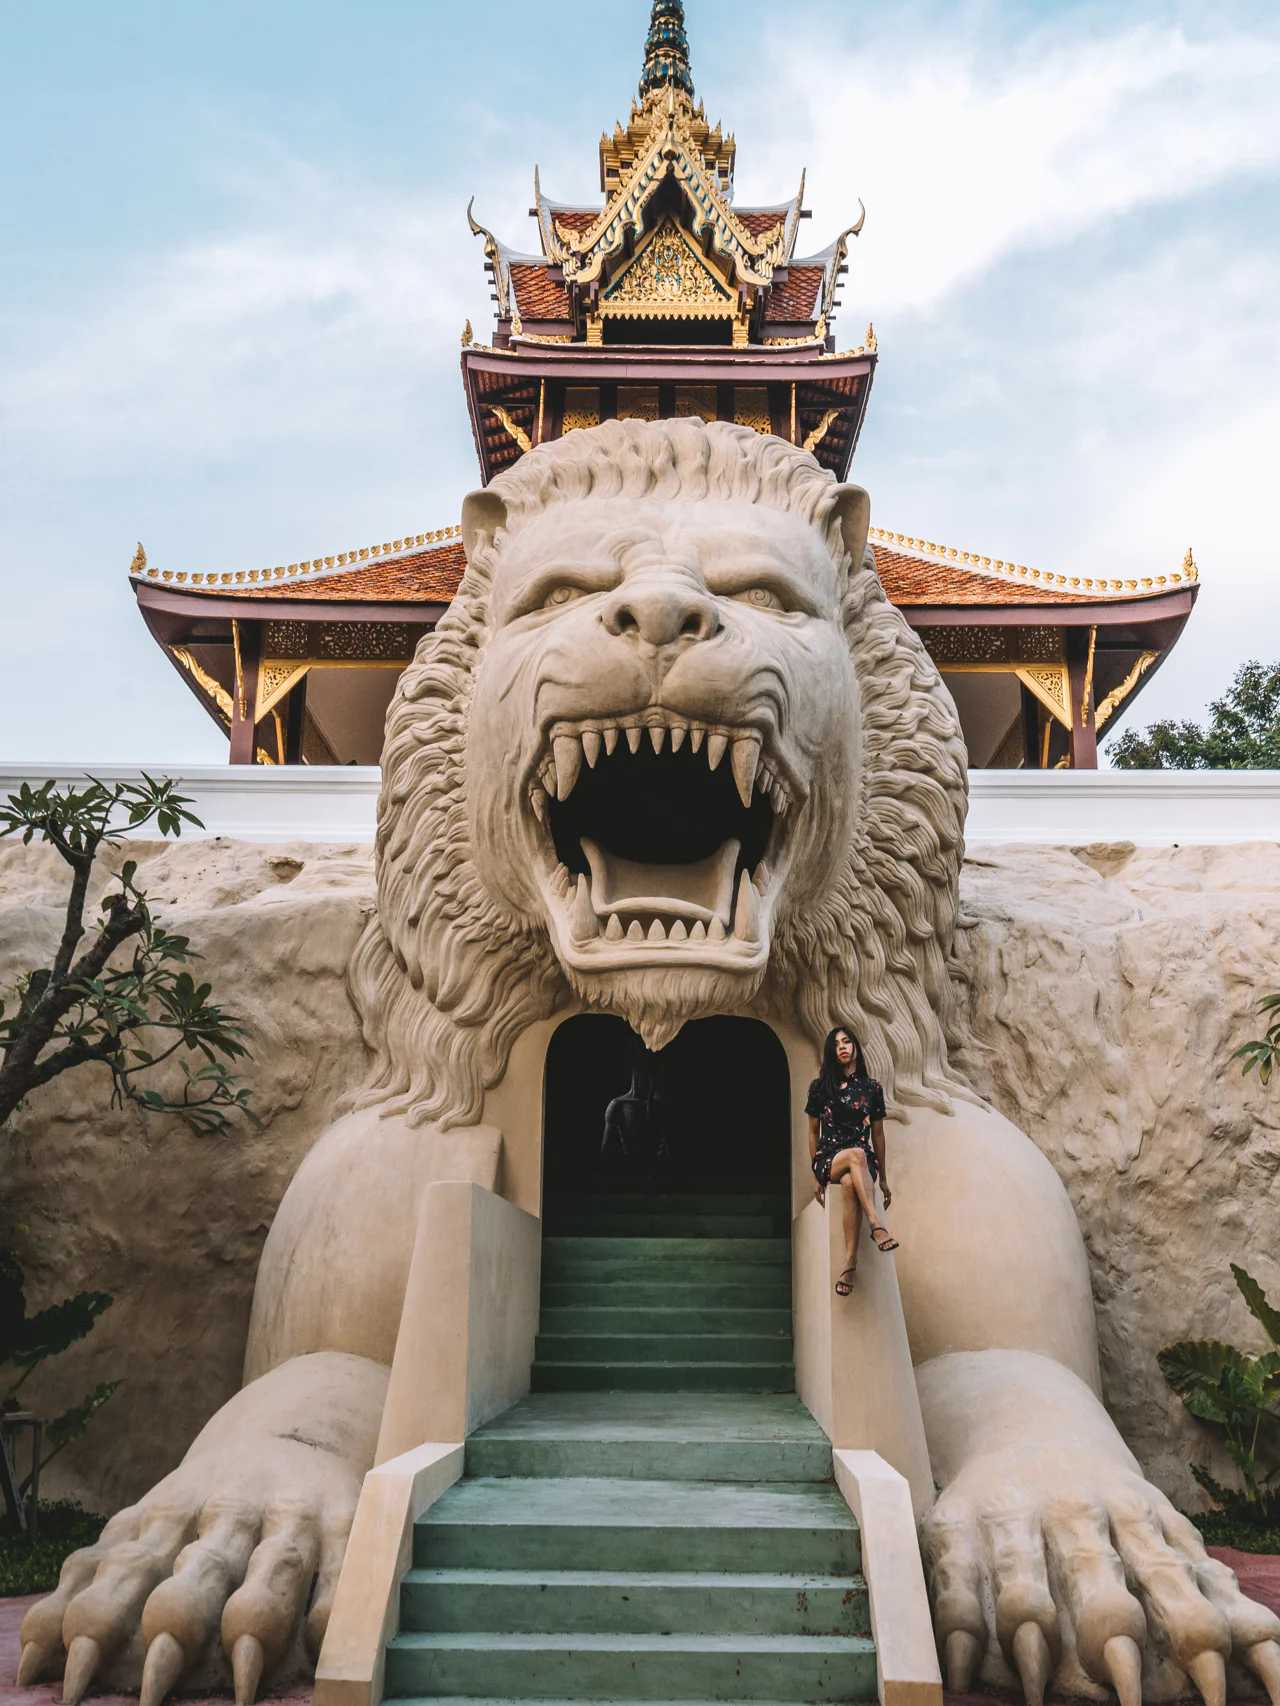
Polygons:
[[302,1436],[189,1457],[31,1607],[19,1686],[61,1668],[67,1706],[102,1680],[159,1706],[179,1682],[230,1675],[249,1706],[265,1674],[314,1667],[358,1491],[353,1467]]

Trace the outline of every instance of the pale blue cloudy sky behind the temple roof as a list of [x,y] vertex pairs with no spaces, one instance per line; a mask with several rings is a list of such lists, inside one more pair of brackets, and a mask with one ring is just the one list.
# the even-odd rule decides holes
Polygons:
[[[1280,657],[1273,5],[688,0],[742,201],[857,198],[840,339],[886,527],[1203,592],[1138,720]],[[5,759],[217,763],[125,573],[445,525],[476,467],[464,206],[596,189],[647,0],[0,3]]]

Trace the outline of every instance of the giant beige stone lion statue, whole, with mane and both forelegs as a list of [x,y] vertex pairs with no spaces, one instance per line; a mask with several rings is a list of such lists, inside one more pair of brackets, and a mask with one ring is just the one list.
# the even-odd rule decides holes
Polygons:
[[1232,1658],[1280,1706],[1280,1622],[1103,1409],[1065,1191],[949,1066],[964,747],[867,520],[802,450],[700,420],[575,432],[468,498],[463,585],[387,715],[352,966],[369,1080],[280,1204],[241,1392],[68,1559],[22,1626],[20,1682],[63,1668],[70,1703],[114,1680],[157,1706],[212,1653],[247,1706],[314,1660],[423,1189],[495,1184],[486,1092],[579,1005],[654,1049],[710,1013],[864,1036],[949,1684],[1137,1706],[1190,1677],[1222,1706]]

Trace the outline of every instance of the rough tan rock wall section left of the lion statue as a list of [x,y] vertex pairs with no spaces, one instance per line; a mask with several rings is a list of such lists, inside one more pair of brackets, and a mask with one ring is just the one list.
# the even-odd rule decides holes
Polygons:
[[[364,1073],[346,960],[374,904],[365,848],[137,843],[154,911],[189,933],[215,998],[249,1025],[261,1129],[196,1138],[111,1109],[94,1066],[38,1090],[0,1136],[5,1221],[36,1309],[82,1288],[114,1305],[24,1387],[46,1413],[123,1378],[49,1489],[114,1510],[183,1455],[239,1387],[258,1254],[288,1179]],[[67,892],[48,850],[0,843],[0,989],[48,964]],[[101,887],[101,885],[99,885]]]

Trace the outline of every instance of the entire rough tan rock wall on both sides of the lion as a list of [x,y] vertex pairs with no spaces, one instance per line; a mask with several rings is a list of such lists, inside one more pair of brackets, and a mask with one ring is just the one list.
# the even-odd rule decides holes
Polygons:
[[[131,853],[155,909],[191,933],[218,998],[249,1020],[263,1128],[193,1138],[108,1109],[87,1068],[38,1092],[0,1140],[32,1307],[82,1286],[116,1295],[29,1384],[49,1409],[125,1378],[51,1476],[104,1510],[172,1467],[239,1384],[271,1215],[362,1073],[345,969],[374,904],[365,848]],[[0,843],[0,988],[46,957],[63,892],[55,856]],[[1231,1261],[1280,1298],[1280,1087],[1268,1095],[1229,1063],[1256,995],[1280,986],[1280,848],[981,850],[963,901],[961,1065],[1067,1182],[1108,1402],[1152,1477],[1190,1501],[1186,1460],[1207,1442],[1155,1351],[1188,1334],[1256,1343]]]

